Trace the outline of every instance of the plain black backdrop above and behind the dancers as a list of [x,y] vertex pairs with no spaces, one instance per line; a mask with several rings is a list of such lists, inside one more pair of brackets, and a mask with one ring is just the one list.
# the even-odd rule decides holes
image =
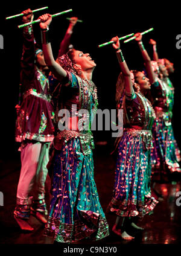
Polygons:
[[[83,23],[74,27],[71,43],[74,48],[89,53],[97,63],[93,81],[98,87],[99,107],[115,109],[115,84],[119,74],[119,65],[111,45],[98,48],[101,43],[113,36],[142,32],[153,27],[154,30],[143,37],[143,42],[152,57],[152,48],[148,41],[157,41],[159,57],[166,57],[174,63],[176,69],[171,80],[176,88],[173,111],[173,127],[180,146],[180,56],[181,49],[176,48],[176,36],[180,30],[180,8],[177,1],[4,1],[1,7],[0,34],[4,37],[4,49],[1,56],[1,156],[0,159],[17,157],[17,143],[14,142],[14,124],[18,102],[19,72],[22,54],[21,18],[6,21],[5,17],[21,13],[22,10],[47,6],[51,14],[72,8],[72,13],[54,18],[50,27],[50,39],[56,58],[59,43],[63,39],[69,21],[66,17],[77,16]],[[34,14],[37,19],[44,11]],[[39,25],[34,25],[34,34],[40,42]],[[121,43],[125,60],[130,69],[142,69],[143,62],[135,41]],[[94,132],[95,140],[109,140],[110,132]]]

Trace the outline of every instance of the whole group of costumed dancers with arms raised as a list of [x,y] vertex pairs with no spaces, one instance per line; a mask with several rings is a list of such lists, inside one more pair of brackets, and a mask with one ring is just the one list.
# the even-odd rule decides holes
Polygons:
[[[23,22],[33,21],[30,9],[22,12]],[[42,48],[34,40],[33,27],[23,28],[24,45],[21,59],[22,103],[17,106],[16,141],[21,142],[21,174],[17,186],[14,218],[22,229],[33,231],[30,214],[45,223],[44,235],[55,242],[73,243],[83,238],[100,240],[109,235],[109,225],[100,205],[94,181],[90,129],[80,129],[83,116],[89,111],[91,124],[97,112],[97,87],[92,82],[96,66],[88,53],[70,45],[77,18],[70,19],[60,43],[57,59],[52,54],[49,30],[52,17],[39,17]],[[162,199],[154,198],[154,182],[171,181],[172,173],[181,173],[180,151],[171,124],[174,87],[169,74],[173,63],[159,59],[156,42],[153,60],[135,34],[144,71],[130,70],[113,37],[113,49],[121,72],[116,83],[116,106],[123,109],[124,130],[116,138],[116,165],[113,196],[106,213],[115,214],[112,231],[125,240],[134,237],[129,228],[142,229],[138,220],[153,212]],[[77,106],[76,109],[72,106]],[[59,130],[59,110],[71,113],[68,126]],[[46,176],[51,174],[51,202],[45,203]]]

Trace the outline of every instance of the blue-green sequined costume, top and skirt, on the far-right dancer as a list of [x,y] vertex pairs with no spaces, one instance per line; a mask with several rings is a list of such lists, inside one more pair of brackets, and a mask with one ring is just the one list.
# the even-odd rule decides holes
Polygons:
[[[158,69],[157,63],[153,63],[153,70]],[[179,166],[180,150],[174,138],[171,118],[173,115],[174,87],[168,77],[156,78],[151,85],[151,96],[156,119],[153,123],[153,148],[151,149],[151,164],[153,181],[169,182],[171,174],[181,173]]]

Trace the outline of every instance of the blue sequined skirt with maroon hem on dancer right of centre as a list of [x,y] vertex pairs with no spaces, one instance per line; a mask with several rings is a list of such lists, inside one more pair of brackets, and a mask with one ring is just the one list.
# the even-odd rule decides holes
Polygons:
[[113,197],[107,212],[122,217],[143,217],[157,200],[151,197],[150,149],[144,146],[142,131],[124,132],[118,146]]

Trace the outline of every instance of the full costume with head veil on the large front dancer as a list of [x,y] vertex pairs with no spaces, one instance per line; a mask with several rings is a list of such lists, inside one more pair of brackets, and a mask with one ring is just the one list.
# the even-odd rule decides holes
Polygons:
[[71,117],[77,117],[80,127],[79,131],[61,130],[59,120],[59,131],[53,142],[52,199],[44,235],[63,243],[86,237],[99,240],[109,235],[109,227],[94,181],[94,140],[90,124],[97,111],[97,88],[92,81],[77,75],[68,54],[59,57],[57,62],[67,72],[61,85],[52,75],[49,77],[54,95],[58,92],[54,101],[57,113],[61,109],[69,110]]

